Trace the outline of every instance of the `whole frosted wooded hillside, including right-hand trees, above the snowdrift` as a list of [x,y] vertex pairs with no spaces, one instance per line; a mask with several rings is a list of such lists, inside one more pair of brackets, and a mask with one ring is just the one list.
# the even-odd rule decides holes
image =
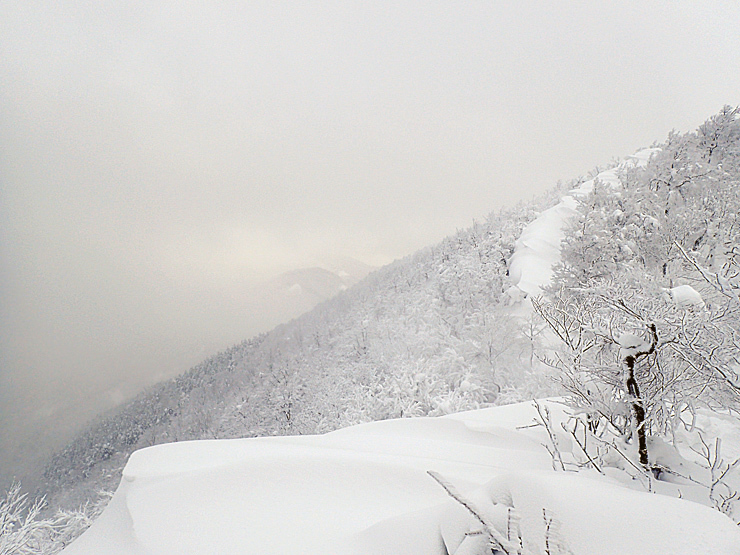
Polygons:
[[[492,214],[159,384],[58,453],[40,491],[73,506],[113,489],[128,456],[158,443],[314,434],[556,394],[594,431],[625,437],[638,409],[633,432],[651,438],[702,409],[737,411],[738,112],[649,153]],[[563,197],[574,212],[562,256],[535,296],[516,288],[512,256]],[[667,471],[652,452],[644,466]]]

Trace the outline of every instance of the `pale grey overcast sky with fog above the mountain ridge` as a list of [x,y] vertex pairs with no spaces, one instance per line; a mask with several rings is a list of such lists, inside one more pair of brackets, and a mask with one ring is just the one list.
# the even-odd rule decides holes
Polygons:
[[738,22],[736,1],[4,0],[0,451],[254,333],[230,307],[262,279],[389,262],[740,104]]

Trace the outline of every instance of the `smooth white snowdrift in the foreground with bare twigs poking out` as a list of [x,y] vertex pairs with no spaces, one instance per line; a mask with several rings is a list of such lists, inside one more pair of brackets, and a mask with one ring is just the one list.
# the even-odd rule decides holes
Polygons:
[[[553,420],[563,409],[549,406]],[[697,503],[595,472],[555,472],[531,403],[387,420],[321,436],[183,442],[134,453],[110,505],[64,555],[478,553],[509,507],[524,553],[740,555],[740,529]],[[545,511],[543,514],[543,510]],[[513,514],[513,513],[512,513]],[[569,551],[568,551],[569,550]]]

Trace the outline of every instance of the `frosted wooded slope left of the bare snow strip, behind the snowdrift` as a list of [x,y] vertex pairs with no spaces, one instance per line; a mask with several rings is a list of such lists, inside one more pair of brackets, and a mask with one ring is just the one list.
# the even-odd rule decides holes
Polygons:
[[45,491],[74,505],[101,482],[113,488],[127,456],[157,443],[321,433],[554,392],[533,357],[542,326],[504,292],[519,233],[557,194],[493,214],[150,389],[58,453]]

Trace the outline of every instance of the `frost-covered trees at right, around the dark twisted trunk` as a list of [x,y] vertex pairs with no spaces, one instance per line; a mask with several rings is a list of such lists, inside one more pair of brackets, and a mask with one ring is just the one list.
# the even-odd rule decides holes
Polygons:
[[548,361],[573,404],[641,444],[699,407],[740,408],[736,113],[672,134],[647,166],[621,171],[619,190],[597,183],[551,302],[535,303],[561,340]]

